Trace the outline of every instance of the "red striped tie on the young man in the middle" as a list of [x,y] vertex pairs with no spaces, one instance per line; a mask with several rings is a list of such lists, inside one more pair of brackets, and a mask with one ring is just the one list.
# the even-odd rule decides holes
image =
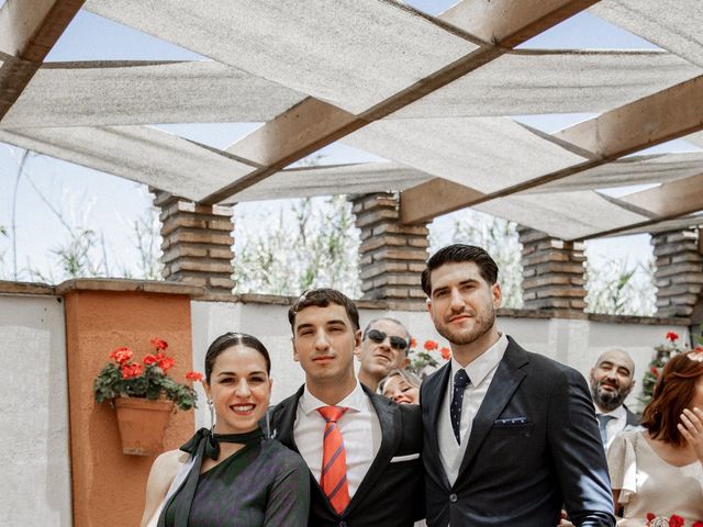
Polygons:
[[344,451],[342,433],[337,428],[337,421],[349,410],[339,406],[323,406],[317,412],[327,422],[325,425],[322,448],[322,473],[320,486],[330,500],[330,504],[342,514],[349,504],[349,486],[347,484],[347,456]]

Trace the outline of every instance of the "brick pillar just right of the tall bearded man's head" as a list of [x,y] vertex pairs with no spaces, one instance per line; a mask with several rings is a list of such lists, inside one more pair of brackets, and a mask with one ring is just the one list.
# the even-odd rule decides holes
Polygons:
[[518,227],[523,245],[523,299],[526,310],[582,313],[585,309],[585,261],[581,242],[563,242],[529,227]]

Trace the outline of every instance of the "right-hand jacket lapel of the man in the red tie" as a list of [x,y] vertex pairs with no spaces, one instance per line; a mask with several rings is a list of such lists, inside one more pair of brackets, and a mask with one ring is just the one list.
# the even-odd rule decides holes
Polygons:
[[371,400],[371,404],[381,425],[381,446],[371,462],[371,467],[369,467],[364,480],[361,480],[359,487],[354,493],[354,497],[349,502],[345,515],[361,503],[364,496],[373,489],[376,482],[388,467],[388,463],[390,463],[393,453],[398,450],[398,446],[402,439],[403,424],[398,406],[390,400],[370,392],[364,384],[361,384],[361,388]]

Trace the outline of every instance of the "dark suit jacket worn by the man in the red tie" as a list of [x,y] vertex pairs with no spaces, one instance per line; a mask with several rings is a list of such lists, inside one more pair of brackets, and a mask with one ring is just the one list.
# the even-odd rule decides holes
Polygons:
[[[417,405],[399,405],[361,385],[371,400],[381,425],[381,447],[354,493],[348,507],[338,515],[320,484],[310,474],[311,527],[411,527],[424,518],[422,460],[403,460],[422,450],[422,418]],[[298,452],[293,425],[303,386],[280,402],[270,414],[276,438]],[[322,431],[322,430],[321,430]],[[369,430],[370,434],[370,430]],[[391,462],[393,458],[397,462]]]

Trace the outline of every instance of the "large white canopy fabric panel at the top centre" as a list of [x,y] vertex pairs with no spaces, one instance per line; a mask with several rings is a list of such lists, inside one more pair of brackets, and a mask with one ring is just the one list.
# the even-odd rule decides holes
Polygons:
[[88,0],[96,14],[360,113],[476,49],[379,0]]

